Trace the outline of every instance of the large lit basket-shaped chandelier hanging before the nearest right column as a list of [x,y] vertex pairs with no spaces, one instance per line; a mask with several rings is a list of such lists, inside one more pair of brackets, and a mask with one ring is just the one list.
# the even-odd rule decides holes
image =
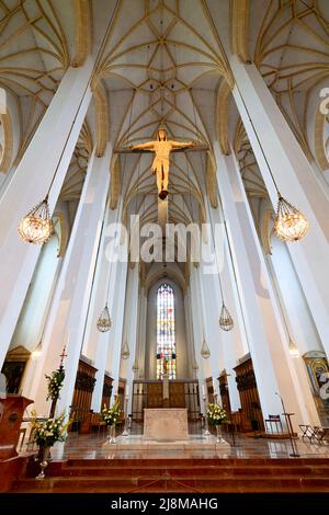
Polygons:
[[299,241],[308,232],[306,217],[295,206],[279,194],[274,230],[282,241]]

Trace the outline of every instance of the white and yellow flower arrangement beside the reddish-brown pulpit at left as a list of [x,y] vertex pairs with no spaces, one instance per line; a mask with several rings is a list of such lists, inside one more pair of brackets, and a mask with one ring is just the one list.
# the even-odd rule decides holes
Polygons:
[[34,430],[34,442],[41,447],[52,447],[56,442],[64,442],[67,437],[67,427],[70,421],[65,422],[65,412],[57,419],[48,419],[45,422],[36,420],[35,411],[32,412],[31,426]]

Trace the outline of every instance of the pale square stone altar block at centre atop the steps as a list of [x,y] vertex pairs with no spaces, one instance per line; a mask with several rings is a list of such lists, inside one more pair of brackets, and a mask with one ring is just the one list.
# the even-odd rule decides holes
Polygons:
[[157,442],[189,439],[186,408],[146,408],[144,438]]

